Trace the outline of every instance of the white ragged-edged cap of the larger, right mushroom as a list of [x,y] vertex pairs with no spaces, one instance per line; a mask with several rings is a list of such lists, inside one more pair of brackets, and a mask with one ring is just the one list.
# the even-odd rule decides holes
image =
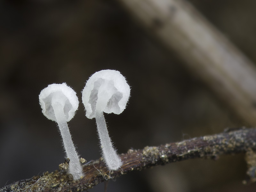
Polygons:
[[101,70],[94,73],[82,91],[86,117],[95,117],[96,110],[120,114],[130,97],[130,86],[125,77],[116,70]]

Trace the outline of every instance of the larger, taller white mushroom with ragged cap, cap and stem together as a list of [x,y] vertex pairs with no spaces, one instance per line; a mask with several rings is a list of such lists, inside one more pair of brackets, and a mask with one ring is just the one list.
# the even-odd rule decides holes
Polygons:
[[124,111],[130,97],[130,86],[119,71],[101,70],[94,73],[82,91],[82,101],[86,117],[95,118],[100,137],[103,158],[109,170],[117,170],[122,161],[113,148],[109,138],[105,113],[120,114]]

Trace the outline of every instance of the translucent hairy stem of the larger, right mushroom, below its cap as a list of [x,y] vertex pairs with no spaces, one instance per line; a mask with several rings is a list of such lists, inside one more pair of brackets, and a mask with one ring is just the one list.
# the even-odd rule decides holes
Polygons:
[[116,150],[113,148],[112,142],[109,138],[103,112],[96,112],[95,115],[103,157],[110,170],[117,170],[121,167],[122,161],[120,157],[116,154]]

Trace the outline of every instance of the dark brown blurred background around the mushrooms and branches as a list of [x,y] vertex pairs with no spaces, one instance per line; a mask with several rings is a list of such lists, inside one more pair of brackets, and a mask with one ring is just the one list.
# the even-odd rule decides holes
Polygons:
[[[191,3],[256,62],[256,1]],[[87,161],[100,157],[95,119],[85,117],[81,91],[101,69],[119,70],[132,88],[124,112],[105,115],[118,153],[246,124],[114,0],[0,1],[0,63],[0,187],[64,162],[57,125],[38,102],[48,84],[66,82],[77,92],[73,141]],[[108,191],[255,191],[244,179],[240,154],[131,172],[110,180]],[[103,190],[101,183],[88,191]]]

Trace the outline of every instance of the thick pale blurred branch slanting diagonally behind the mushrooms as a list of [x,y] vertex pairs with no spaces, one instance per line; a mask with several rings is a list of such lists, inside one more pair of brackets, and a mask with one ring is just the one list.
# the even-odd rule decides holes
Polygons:
[[256,119],[256,68],[184,0],[116,0],[246,124]]

